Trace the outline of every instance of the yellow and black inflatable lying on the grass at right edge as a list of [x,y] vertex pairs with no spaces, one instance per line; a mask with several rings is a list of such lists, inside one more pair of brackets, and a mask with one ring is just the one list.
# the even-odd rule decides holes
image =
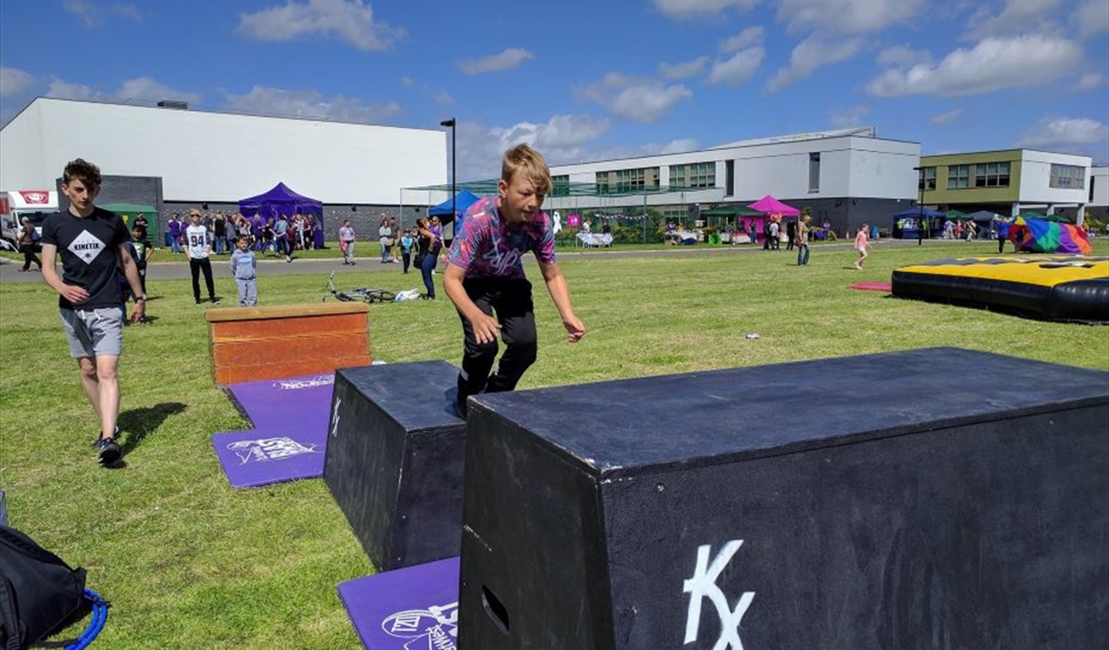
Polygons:
[[902,266],[893,295],[1011,311],[1052,321],[1109,323],[1109,256],[959,257]]

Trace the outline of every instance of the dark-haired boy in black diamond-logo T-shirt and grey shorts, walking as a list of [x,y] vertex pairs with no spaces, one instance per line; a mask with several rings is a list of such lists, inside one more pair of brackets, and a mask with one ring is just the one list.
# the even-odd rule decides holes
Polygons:
[[[70,354],[78,360],[84,395],[100,420],[100,435],[93,441],[103,466],[119,461],[120,382],[119,363],[123,352],[123,291],[116,282],[116,267],[123,270],[128,286],[135,295],[132,322],[146,314],[139,270],[131,256],[128,228],[114,212],[96,207],[100,169],[82,159],[65,165],[62,194],[69,209],[55,212],[42,224],[42,278],[58,292]],[[57,260],[61,253],[62,274]]]

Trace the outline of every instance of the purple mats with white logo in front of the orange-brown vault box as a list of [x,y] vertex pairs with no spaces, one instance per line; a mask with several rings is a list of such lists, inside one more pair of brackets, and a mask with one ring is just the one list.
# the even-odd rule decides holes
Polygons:
[[258,487],[324,475],[334,373],[232,384],[232,397],[254,424],[212,436],[232,486]]

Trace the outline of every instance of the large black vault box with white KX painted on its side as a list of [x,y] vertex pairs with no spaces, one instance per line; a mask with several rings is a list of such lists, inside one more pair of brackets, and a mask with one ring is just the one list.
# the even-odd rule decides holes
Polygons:
[[482,395],[469,650],[1109,638],[1109,374],[953,348]]

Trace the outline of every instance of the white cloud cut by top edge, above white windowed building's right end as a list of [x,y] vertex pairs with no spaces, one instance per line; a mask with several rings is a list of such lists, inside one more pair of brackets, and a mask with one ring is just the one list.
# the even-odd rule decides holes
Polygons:
[[925,7],[925,0],[782,0],[777,19],[791,31],[867,33],[908,22]]

